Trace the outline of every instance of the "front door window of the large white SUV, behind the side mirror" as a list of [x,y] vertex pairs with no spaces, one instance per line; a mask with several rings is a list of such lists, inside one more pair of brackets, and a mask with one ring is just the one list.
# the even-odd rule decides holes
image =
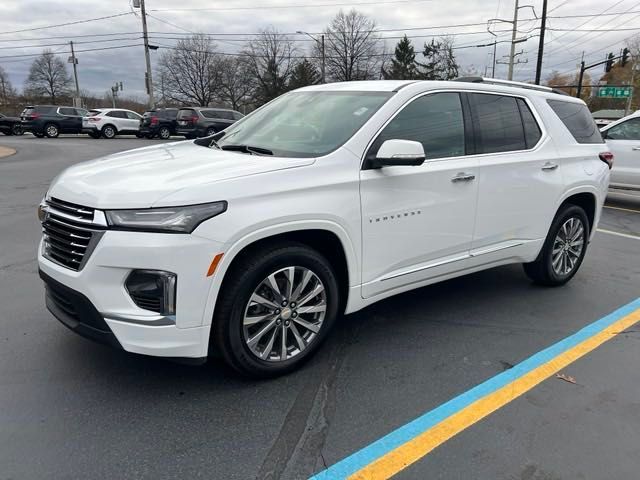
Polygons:
[[367,158],[375,157],[380,145],[392,139],[422,143],[426,158],[464,155],[464,121],[460,96],[457,93],[435,93],[411,102],[376,138]]

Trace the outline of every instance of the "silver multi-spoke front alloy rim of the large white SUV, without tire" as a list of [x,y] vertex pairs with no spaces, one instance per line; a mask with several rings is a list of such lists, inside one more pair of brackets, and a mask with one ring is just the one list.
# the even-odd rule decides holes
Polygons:
[[255,288],[243,317],[243,339],[256,357],[289,360],[317,337],[327,312],[327,292],[320,278],[300,266],[271,273]]

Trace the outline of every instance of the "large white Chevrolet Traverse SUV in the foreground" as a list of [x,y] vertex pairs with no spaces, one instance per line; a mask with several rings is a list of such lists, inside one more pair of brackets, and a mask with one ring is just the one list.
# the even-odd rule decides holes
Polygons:
[[70,167],[39,209],[49,310],[129,352],[271,376],[400,292],[516,262],[564,284],[611,155],[581,100],[471,80],[305,87]]

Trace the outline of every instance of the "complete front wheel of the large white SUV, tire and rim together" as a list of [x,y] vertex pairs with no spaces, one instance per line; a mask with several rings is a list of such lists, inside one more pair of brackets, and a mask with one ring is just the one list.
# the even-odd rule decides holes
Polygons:
[[[293,287],[288,288],[290,267],[294,268],[294,281]],[[277,298],[276,291],[269,287],[270,276],[288,299]],[[316,291],[315,296],[309,297]],[[256,292],[267,301],[252,301]],[[302,300],[304,308],[317,310],[301,312],[294,300]],[[220,352],[224,361],[243,375],[254,378],[283,375],[298,368],[317,350],[335,322],[338,305],[338,282],[322,255],[295,242],[270,245],[238,259],[227,274],[213,317],[209,348]],[[246,326],[245,315],[263,318]],[[264,334],[258,335],[261,331]],[[252,344],[250,340],[256,338]]]

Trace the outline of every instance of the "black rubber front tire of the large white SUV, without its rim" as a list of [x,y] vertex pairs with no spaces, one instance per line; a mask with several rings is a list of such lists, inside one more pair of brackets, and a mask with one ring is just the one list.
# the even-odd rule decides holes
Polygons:
[[[243,319],[249,297],[271,273],[288,266],[308,268],[320,278],[327,292],[327,311],[320,332],[303,352],[283,362],[267,362],[257,358],[246,345],[243,338]],[[234,368],[245,375],[254,377],[273,377],[290,372],[307,360],[322,344],[337,317],[339,306],[338,282],[329,263],[316,251],[305,246],[278,249],[261,256],[243,271],[232,289],[225,289],[222,295],[223,308],[214,316],[214,329],[218,342],[222,342],[222,353]],[[224,300],[227,300],[226,302]],[[226,311],[225,311],[226,310]]]

